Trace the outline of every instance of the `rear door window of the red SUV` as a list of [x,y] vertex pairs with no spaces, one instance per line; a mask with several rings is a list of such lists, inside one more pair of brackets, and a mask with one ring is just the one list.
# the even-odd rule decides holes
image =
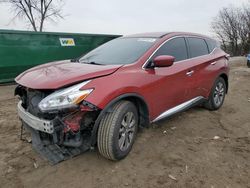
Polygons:
[[188,38],[190,58],[209,54],[207,44],[204,39],[190,37]]

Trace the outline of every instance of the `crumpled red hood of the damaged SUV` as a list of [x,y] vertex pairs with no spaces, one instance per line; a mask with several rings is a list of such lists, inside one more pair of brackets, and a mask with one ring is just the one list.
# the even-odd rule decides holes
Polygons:
[[122,65],[92,65],[74,63],[70,60],[47,63],[31,68],[15,81],[32,89],[58,89],[76,82],[106,76]]

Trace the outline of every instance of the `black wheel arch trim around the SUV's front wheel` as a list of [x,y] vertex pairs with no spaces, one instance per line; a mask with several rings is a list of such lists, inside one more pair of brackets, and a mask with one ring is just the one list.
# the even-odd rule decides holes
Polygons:
[[[142,112],[140,112],[140,109],[139,110],[139,113],[140,113],[140,125],[145,125],[147,126],[149,124],[149,111],[148,111],[148,106],[147,106],[147,103],[145,102],[145,99],[140,96],[139,94],[137,93],[126,93],[126,94],[122,94],[116,98],[114,98],[113,100],[111,100],[111,102],[109,102],[105,108],[100,112],[100,114],[98,115],[97,119],[95,120],[95,124],[94,124],[94,127],[91,131],[91,148],[93,148],[96,144],[96,138],[97,138],[97,131],[98,131],[98,128],[99,128],[99,125],[100,125],[100,122],[103,118],[103,116],[106,114],[106,113],[110,113],[110,112],[113,112],[113,105],[122,100],[122,99],[126,99],[126,98],[137,98],[137,99],[140,99],[144,105],[145,105],[145,110],[146,110],[146,115],[142,114]],[[144,115],[144,117],[141,117],[142,115]],[[142,119],[146,119],[145,122],[143,122]]]

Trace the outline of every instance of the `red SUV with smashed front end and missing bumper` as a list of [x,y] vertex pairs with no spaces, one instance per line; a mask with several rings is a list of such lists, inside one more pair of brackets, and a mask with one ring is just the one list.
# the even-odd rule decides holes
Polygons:
[[197,104],[219,109],[228,72],[227,54],[209,37],[125,36],[78,59],[20,74],[18,114],[34,149],[51,163],[95,146],[104,157],[120,160],[139,127]]

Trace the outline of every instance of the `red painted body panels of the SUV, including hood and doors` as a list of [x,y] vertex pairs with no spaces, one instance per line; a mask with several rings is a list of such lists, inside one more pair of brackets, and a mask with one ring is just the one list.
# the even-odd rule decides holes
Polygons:
[[[162,33],[152,33],[148,36],[151,35],[160,36]],[[147,35],[140,35],[140,37],[145,36]],[[151,54],[164,41],[174,36],[207,38],[190,33],[169,33],[160,38],[134,64],[100,66],[64,61],[28,70],[18,76],[16,82],[34,89],[57,89],[92,79],[83,88],[94,88],[94,91],[85,99],[86,101],[104,109],[116,97],[136,93],[145,99],[150,120],[153,120],[167,109],[197,96],[208,98],[215,79],[229,72],[227,54],[220,49],[209,55],[174,63],[169,67],[143,69],[143,64]],[[211,65],[212,62],[216,64]],[[189,71],[193,71],[192,76],[186,75]]]

